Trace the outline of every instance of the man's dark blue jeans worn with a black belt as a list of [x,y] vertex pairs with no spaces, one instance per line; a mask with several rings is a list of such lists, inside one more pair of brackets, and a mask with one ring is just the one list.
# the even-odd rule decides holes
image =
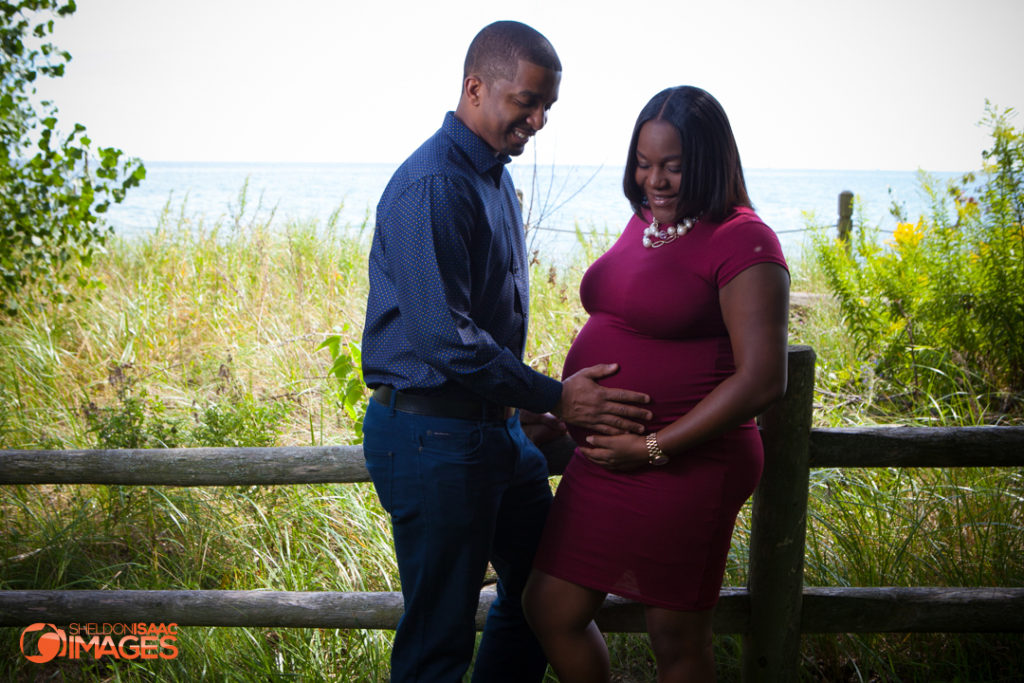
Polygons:
[[540,681],[547,665],[520,597],[552,497],[547,462],[518,414],[504,422],[456,420],[371,399],[362,434],[367,468],[391,515],[406,603],[391,681],[462,680],[488,561],[498,597],[473,681]]

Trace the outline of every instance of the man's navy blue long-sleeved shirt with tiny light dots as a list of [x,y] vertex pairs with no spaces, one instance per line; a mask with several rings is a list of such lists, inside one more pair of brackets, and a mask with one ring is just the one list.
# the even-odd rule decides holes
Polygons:
[[522,362],[529,272],[509,161],[449,112],[391,176],[370,250],[369,386],[558,402],[561,383]]

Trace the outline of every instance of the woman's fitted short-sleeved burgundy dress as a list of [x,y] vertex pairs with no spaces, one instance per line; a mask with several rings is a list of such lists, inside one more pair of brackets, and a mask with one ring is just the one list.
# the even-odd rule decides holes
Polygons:
[[[648,221],[649,222],[649,216]],[[590,318],[563,375],[603,362],[602,380],[650,395],[656,431],[690,411],[734,372],[719,290],[757,263],[785,259],[775,233],[750,209],[722,223],[698,221],[657,249],[641,244],[634,216],[580,287]],[[572,429],[582,443],[586,431]],[[549,574],[678,610],[715,605],[736,514],[761,476],[754,421],[664,467],[609,472],[579,451],[555,495],[535,565]]]

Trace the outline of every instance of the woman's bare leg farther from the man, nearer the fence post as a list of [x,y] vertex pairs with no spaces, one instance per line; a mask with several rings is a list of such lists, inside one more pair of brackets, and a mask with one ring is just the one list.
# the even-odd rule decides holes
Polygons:
[[709,683],[715,680],[711,609],[683,612],[648,605],[644,611],[657,663],[658,683]]

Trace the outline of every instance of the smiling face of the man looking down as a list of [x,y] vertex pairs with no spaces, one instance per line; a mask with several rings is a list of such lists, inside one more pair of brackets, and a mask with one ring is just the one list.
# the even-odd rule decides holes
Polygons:
[[548,110],[558,99],[561,72],[519,60],[515,79],[497,79],[471,85],[477,98],[470,130],[498,155],[521,155],[526,142],[548,121]]

